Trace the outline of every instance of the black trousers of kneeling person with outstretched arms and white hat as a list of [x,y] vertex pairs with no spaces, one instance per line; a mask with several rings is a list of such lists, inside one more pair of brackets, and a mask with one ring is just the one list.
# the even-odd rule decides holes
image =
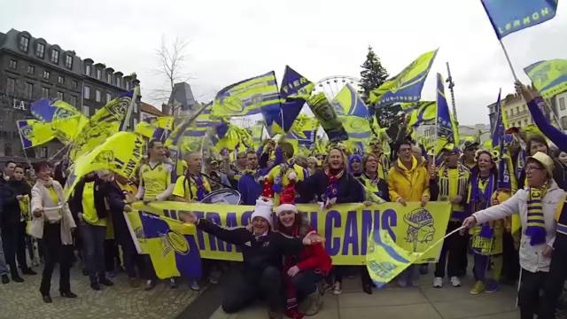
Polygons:
[[224,294],[222,310],[229,314],[236,313],[260,298],[268,303],[270,310],[276,311],[283,307],[280,269],[270,266],[258,274],[238,274]]

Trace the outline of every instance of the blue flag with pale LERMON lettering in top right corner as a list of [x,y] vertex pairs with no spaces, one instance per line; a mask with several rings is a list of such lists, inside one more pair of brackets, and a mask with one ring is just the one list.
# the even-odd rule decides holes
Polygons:
[[481,0],[496,36],[533,27],[555,17],[557,0]]

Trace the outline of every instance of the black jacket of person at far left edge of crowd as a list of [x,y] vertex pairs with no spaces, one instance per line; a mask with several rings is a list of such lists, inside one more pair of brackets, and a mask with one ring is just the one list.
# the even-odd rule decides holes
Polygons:
[[0,197],[3,198],[2,223],[4,226],[18,224],[21,220],[21,211],[16,196],[27,195],[31,199],[31,187],[26,181],[10,180],[0,186]]

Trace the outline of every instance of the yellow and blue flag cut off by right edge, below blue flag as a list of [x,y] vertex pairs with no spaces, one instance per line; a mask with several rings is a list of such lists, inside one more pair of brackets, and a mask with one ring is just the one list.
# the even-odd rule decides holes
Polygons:
[[554,97],[567,90],[567,59],[536,62],[525,67],[524,71],[544,98]]

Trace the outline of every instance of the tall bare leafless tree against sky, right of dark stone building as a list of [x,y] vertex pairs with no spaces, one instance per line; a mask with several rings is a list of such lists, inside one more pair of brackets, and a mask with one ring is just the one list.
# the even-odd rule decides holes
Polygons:
[[167,104],[171,94],[175,93],[175,83],[187,82],[191,79],[185,71],[188,47],[189,42],[179,35],[175,36],[172,42],[168,42],[165,35],[161,36],[161,46],[156,50],[159,66],[155,69],[155,73],[163,76],[165,83],[163,88],[152,90],[152,99]]

